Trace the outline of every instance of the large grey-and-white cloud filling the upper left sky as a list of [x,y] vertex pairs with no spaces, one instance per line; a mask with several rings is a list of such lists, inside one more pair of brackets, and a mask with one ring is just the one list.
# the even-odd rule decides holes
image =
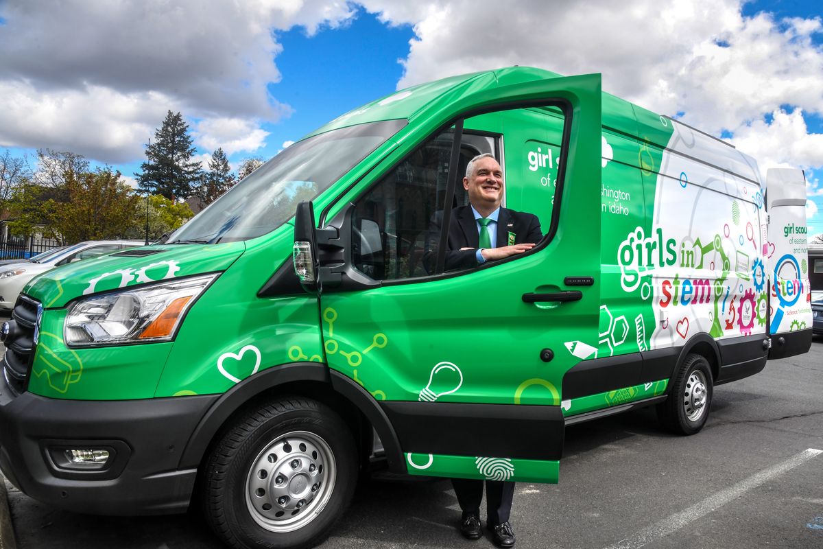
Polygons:
[[[118,163],[141,154],[167,109],[193,119],[276,121],[272,30],[340,26],[336,0],[0,2],[0,145],[69,149]],[[224,149],[259,147],[259,128]],[[207,142],[210,137],[202,137]]]

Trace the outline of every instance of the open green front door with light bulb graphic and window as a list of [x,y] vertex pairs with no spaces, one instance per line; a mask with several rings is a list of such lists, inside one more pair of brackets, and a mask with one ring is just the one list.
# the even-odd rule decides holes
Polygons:
[[[347,210],[332,208],[328,230],[340,236],[318,243],[332,386],[379,404],[397,436],[378,429],[381,440],[387,453],[399,446],[405,472],[557,482],[560,388],[586,356],[566,342],[597,341],[600,84],[586,75],[453,91],[410,121],[387,168],[342,197]],[[443,249],[441,220],[458,215],[463,151],[488,143],[511,174],[525,156],[506,155],[503,142],[511,151],[529,140],[558,144],[563,159],[556,196],[534,204],[551,220],[539,244],[475,268],[427,255],[425,242]],[[519,222],[500,218],[497,245],[513,244]],[[335,243],[338,256],[323,252]]]

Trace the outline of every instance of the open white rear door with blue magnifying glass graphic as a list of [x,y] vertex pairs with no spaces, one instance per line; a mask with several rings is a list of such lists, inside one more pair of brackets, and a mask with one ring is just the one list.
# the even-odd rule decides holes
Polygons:
[[811,287],[806,228],[806,178],[801,170],[766,171],[769,240],[771,349],[769,358],[808,352],[811,347]]

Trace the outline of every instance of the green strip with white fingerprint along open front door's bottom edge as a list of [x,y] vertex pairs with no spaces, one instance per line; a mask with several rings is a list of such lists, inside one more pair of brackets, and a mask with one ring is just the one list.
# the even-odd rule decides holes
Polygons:
[[410,475],[426,477],[476,478],[510,482],[546,482],[556,484],[560,462],[518,458],[477,458],[442,454],[406,453]]

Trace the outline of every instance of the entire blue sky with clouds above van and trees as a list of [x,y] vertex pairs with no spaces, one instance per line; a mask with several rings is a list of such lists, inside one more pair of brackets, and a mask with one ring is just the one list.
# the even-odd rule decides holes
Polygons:
[[532,65],[802,167],[823,233],[817,0],[0,0],[0,148],[124,174],[168,109],[207,160],[268,158],[395,89]]

